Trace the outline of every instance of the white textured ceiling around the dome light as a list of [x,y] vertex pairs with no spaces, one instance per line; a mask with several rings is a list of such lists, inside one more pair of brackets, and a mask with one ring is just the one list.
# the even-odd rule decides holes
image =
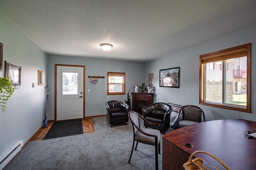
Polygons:
[[256,25],[256,0],[0,0],[0,13],[48,54],[146,62]]

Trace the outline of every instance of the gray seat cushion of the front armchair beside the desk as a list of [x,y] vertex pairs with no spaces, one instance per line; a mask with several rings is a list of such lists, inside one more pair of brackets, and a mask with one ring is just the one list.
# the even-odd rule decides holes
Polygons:
[[[148,128],[142,128],[141,130],[145,133],[148,133],[148,134],[151,134],[151,135],[156,135],[157,136],[157,141],[158,141],[158,143],[160,143],[160,139],[161,139],[160,131],[158,131],[156,129],[148,129]],[[155,145],[155,138],[154,137],[144,135],[140,131],[136,132],[135,137],[134,137],[134,141],[137,141],[137,142],[140,142],[140,143],[146,143],[148,145]]]

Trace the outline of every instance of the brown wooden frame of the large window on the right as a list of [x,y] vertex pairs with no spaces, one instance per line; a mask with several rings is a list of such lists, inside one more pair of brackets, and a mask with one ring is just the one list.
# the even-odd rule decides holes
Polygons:
[[[247,63],[246,63],[247,64],[246,107],[241,108],[240,105],[236,105],[238,107],[234,107],[235,105],[224,104],[224,102],[222,102],[222,104],[220,104],[220,103],[206,101],[205,100],[205,79],[206,78],[204,77],[204,74],[205,74],[204,64],[209,63],[209,62],[214,62],[214,61],[216,61],[215,60],[216,58],[219,59],[220,57],[223,57],[223,60],[227,60],[228,59],[228,54],[230,54],[230,51],[235,52],[235,51],[239,51],[240,49],[244,49],[244,48],[246,48],[245,51],[238,52],[238,53],[241,53],[241,54],[246,53],[246,56],[247,56]],[[242,111],[242,112],[246,112],[246,113],[251,113],[251,43],[244,44],[244,45],[239,45],[239,46],[228,48],[228,49],[223,49],[223,50],[220,50],[220,51],[215,51],[215,52],[212,52],[212,53],[203,54],[203,55],[200,55],[199,57],[200,57],[199,104],[206,105],[206,106],[212,106],[212,107],[219,107],[219,108],[224,108],[224,109],[230,109],[230,110],[236,110],[236,111]],[[240,58],[240,57],[244,57],[244,56],[239,56],[237,58]],[[222,72],[224,70],[226,70],[226,69],[223,69]],[[224,80],[224,77],[222,78],[222,80]],[[224,92],[223,92],[222,93],[222,100],[223,101],[224,101],[225,96],[226,96],[226,94],[224,94]]]

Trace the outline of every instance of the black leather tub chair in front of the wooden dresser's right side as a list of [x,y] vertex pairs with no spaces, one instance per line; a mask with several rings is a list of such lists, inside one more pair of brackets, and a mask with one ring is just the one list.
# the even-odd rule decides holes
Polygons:
[[[160,131],[164,134],[170,128],[170,114],[172,107],[166,103],[150,104],[142,109],[143,117],[147,121],[160,124]],[[144,121],[145,127],[156,128]]]

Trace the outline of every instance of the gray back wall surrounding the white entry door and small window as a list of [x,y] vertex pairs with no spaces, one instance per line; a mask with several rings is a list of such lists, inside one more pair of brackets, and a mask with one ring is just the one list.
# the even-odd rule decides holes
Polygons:
[[[144,83],[145,63],[92,59],[84,57],[66,57],[48,55],[48,119],[54,119],[54,64],[72,64],[85,66],[85,116],[105,115],[105,104],[110,100],[127,100],[127,91],[134,92],[133,87]],[[107,95],[107,72],[125,72],[126,94]],[[97,84],[91,84],[88,76],[105,76]],[[90,92],[88,92],[90,89]],[[132,95],[130,94],[132,98]]]

